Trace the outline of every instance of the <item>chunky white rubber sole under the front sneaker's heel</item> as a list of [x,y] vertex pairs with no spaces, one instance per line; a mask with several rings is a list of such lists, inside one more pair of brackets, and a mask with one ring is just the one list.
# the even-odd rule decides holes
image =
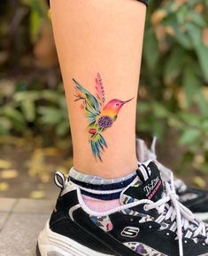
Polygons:
[[37,256],[115,256],[96,252],[50,230],[49,221],[38,237]]

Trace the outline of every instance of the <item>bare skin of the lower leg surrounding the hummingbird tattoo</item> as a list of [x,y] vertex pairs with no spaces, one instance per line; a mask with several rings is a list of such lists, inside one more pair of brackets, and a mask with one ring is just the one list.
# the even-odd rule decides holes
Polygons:
[[[146,6],[135,0],[51,0],[50,7],[73,138],[73,166],[105,179],[125,176],[137,167],[135,111]],[[102,133],[107,143],[102,162],[89,144],[88,131],[94,130],[88,130],[89,120],[74,101],[73,78],[95,95],[97,73],[106,103],[134,98]]]

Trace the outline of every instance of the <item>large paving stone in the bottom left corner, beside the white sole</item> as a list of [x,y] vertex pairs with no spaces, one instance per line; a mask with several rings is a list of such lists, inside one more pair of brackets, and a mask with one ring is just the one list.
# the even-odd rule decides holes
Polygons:
[[0,233],[0,256],[35,256],[37,236],[48,214],[12,213]]

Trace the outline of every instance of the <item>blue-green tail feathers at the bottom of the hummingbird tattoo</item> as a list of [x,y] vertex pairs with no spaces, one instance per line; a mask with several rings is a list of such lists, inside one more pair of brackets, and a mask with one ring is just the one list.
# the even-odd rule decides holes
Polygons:
[[90,137],[89,143],[91,145],[93,155],[102,161],[101,151],[104,151],[104,148],[107,148],[104,137],[100,133],[96,133]]

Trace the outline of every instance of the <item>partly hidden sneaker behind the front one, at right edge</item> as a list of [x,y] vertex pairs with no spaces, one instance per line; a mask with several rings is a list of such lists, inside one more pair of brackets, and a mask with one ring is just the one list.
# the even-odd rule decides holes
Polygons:
[[[152,141],[150,149],[146,143],[136,140],[137,157],[140,162],[151,159],[157,162],[162,178],[166,181],[171,180],[173,172],[157,160],[155,153],[156,138]],[[174,188],[179,196],[179,201],[194,212],[196,219],[208,222],[208,191],[200,188],[189,188],[180,179],[174,179]]]

